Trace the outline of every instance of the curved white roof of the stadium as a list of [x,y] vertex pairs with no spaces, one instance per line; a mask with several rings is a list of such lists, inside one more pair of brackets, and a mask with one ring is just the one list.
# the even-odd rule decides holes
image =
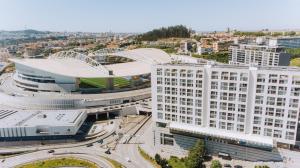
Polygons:
[[[110,53],[109,55],[126,57],[133,62],[101,65],[95,63],[90,57],[83,54],[56,57],[48,59],[11,59],[18,69],[39,70],[46,73],[67,77],[100,78],[125,77],[142,75],[151,72],[151,66],[157,63],[171,62],[171,57],[162,50],[154,48],[140,48],[128,51]],[[113,74],[109,75],[109,71]]]

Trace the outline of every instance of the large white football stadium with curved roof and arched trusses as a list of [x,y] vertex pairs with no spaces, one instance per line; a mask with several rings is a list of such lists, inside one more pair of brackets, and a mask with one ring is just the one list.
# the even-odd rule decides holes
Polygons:
[[171,62],[159,49],[62,51],[46,59],[11,59],[0,78],[0,104],[19,109],[116,111],[151,98],[151,68]]

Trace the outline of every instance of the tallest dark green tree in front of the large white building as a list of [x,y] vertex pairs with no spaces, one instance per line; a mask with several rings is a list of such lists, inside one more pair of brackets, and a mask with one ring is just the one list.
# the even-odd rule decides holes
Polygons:
[[203,157],[205,155],[205,146],[203,140],[198,140],[194,147],[189,150],[189,154],[185,160],[185,165],[188,168],[202,168]]

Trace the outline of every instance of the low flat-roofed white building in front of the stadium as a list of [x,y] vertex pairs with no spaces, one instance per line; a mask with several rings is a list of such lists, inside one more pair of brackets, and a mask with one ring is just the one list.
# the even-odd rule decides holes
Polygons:
[[0,140],[38,139],[75,135],[87,114],[78,110],[0,110]]

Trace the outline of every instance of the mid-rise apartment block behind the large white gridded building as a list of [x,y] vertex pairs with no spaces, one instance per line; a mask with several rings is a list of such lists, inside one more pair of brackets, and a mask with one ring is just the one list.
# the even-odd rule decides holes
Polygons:
[[288,66],[290,58],[290,54],[278,47],[256,44],[239,44],[229,47],[229,64]]

